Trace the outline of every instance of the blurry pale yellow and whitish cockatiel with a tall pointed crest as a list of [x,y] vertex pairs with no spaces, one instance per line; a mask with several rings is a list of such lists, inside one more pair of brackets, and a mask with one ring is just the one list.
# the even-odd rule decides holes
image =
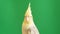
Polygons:
[[25,13],[24,21],[22,23],[22,34],[40,34],[33,21],[30,3],[28,5],[28,9]]

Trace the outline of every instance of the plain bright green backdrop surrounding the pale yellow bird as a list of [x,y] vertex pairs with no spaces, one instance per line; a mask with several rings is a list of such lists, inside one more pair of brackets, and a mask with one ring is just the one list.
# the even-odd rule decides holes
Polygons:
[[29,2],[39,32],[60,34],[59,0],[0,0],[0,34],[22,34],[21,26]]

